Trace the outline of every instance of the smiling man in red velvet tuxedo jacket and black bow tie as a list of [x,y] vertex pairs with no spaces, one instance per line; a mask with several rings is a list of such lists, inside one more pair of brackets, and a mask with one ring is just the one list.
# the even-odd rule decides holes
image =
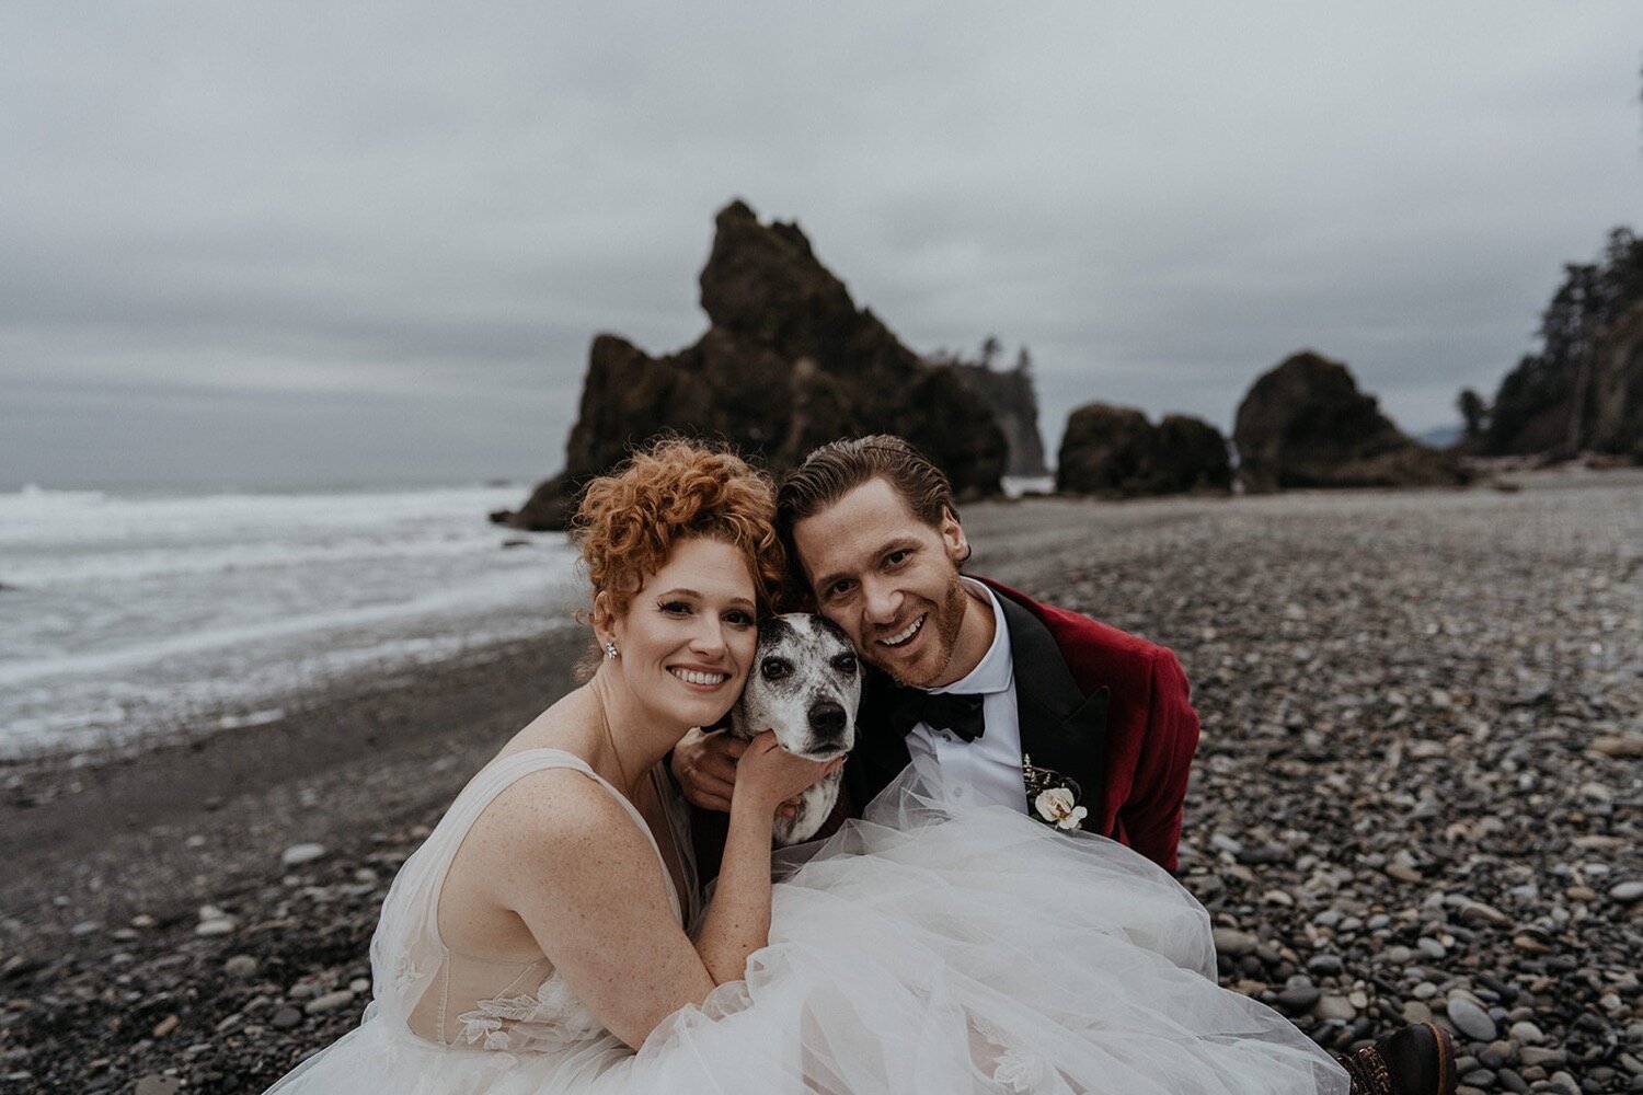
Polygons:
[[[1170,650],[961,575],[971,548],[946,476],[899,437],[810,453],[777,525],[817,611],[882,670],[845,767],[849,808],[918,754],[958,796],[1176,868],[1198,714]],[[688,734],[672,760],[687,798],[728,809],[739,745]]]

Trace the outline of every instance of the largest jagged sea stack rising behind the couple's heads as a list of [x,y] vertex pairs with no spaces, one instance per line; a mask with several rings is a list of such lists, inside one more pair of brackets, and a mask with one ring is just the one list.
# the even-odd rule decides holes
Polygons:
[[700,286],[708,330],[693,345],[652,358],[593,340],[565,470],[495,520],[565,527],[582,486],[662,430],[725,438],[774,473],[840,437],[900,433],[960,497],[999,493],[1007,445],[986,401],[858,309],[797,223],[761,225],[731,202]]

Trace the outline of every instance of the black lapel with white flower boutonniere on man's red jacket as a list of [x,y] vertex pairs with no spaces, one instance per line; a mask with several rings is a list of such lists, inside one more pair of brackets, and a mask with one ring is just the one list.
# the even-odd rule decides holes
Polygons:
[[1076,781],[1079,804],[1094,814],[1104,790],[1107,690],[1084,696],[1050,629],[1006,594],[997,598],[1010,629],[1022,754],[1033,767],[1053,768]]

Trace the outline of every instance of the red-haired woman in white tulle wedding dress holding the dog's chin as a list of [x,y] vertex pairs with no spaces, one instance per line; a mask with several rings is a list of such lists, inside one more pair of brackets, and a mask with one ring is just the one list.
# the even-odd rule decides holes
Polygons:
[[772,517],[761,474],[677,440],[588,488],[596,670],[406,860],[361,1026],[271,1092],[1347,1092],[1216,985],[1208,914],[1168,873],[960,808],[917,763],[772,862],[782,803],[841,762],[756,739],[697,909],[662,758],[746,681]]

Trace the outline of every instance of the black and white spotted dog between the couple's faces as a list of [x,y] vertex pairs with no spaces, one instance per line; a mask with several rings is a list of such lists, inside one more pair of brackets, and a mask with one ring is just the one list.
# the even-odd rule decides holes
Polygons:
[[[772,616],[759,624],[759,647],[748,688],[729,712],[729,732],[752,740],[775,731],[790,754],[831,760],[856,744],[861,663],[849,639],[831,621],[803,612]],[[843,772],[798,796],[794,818],[775,819],[775,842],[798,844],[815,836],[833,813]]]

